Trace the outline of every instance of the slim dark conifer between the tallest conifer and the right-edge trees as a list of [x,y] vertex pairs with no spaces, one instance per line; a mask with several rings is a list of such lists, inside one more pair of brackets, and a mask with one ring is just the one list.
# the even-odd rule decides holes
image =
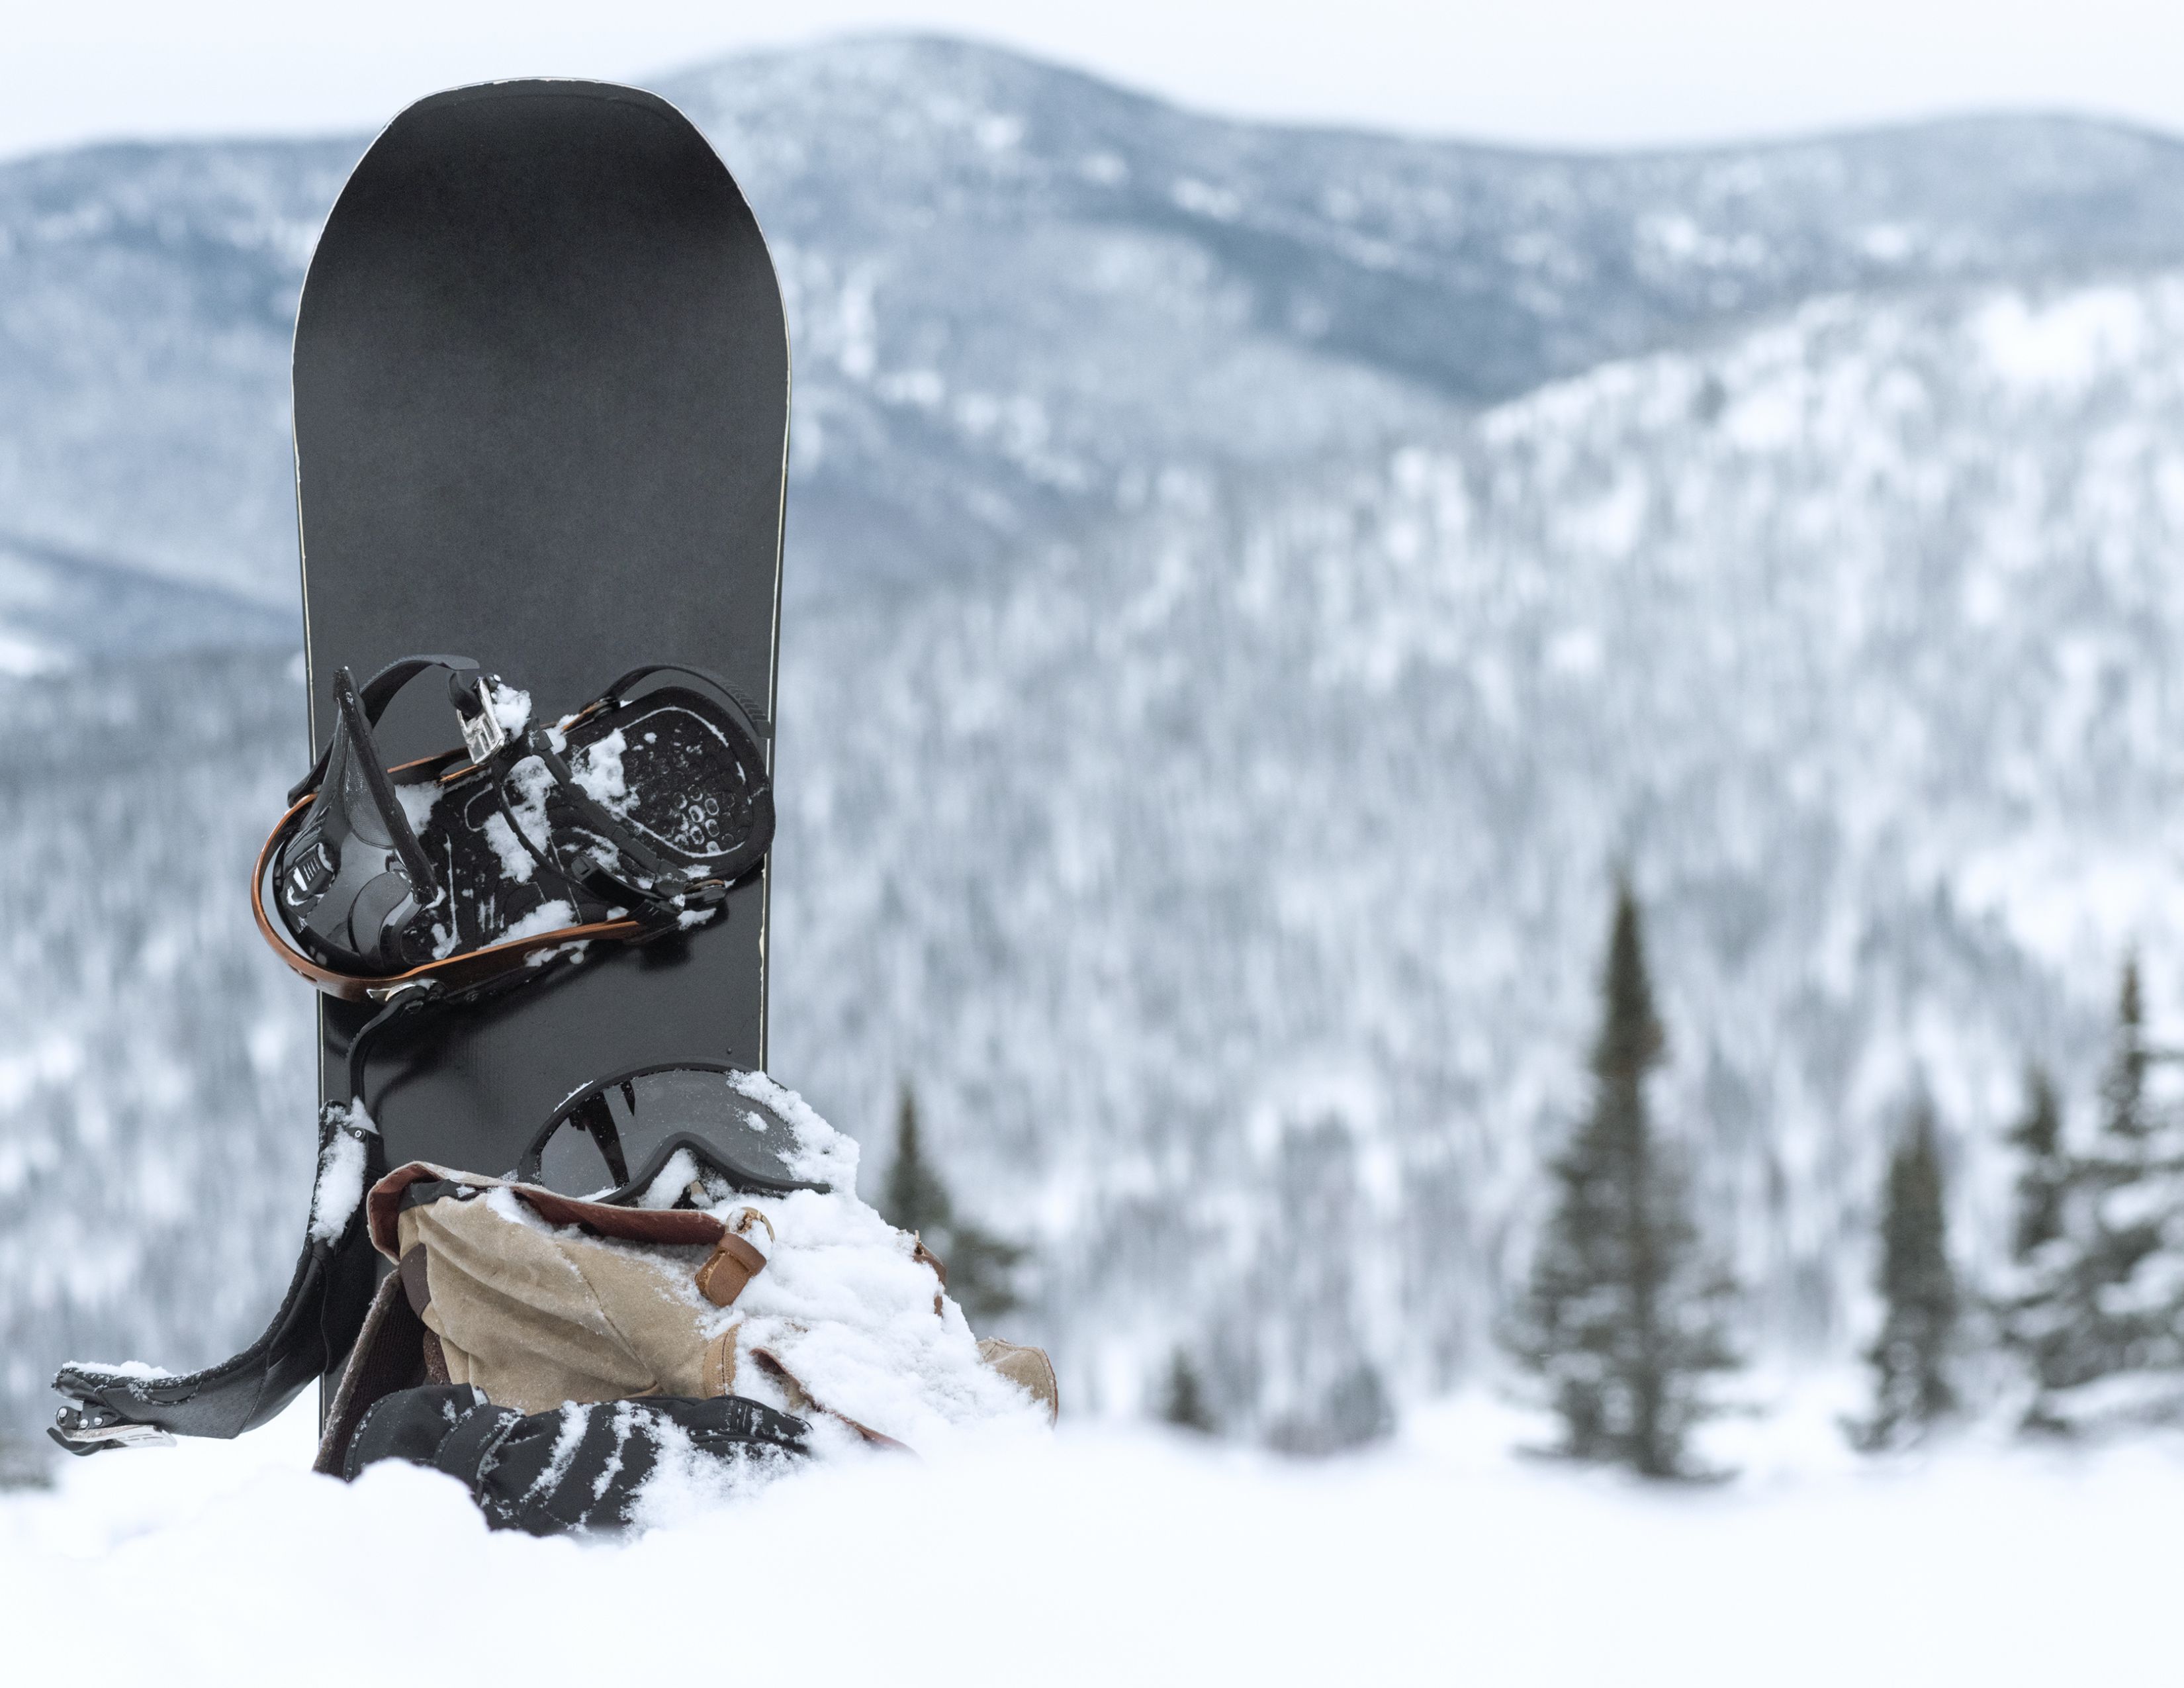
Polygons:
[[1887,1317],[1865,1352],[1874,1369],[1874,1413],[1859,1446],[1889,1448],[1957,1406],[1948,1369],[1957,1336],[1957,1273],[1948,1264],[1948,1216],[1933,1103],[1922,1094],[1889,1155],[1880,1210],[1880,1299]]

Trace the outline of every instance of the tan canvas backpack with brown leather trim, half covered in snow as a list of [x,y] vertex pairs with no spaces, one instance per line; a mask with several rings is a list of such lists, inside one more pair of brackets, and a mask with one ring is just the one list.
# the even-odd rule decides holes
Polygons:
[[[850,1194],[631,1208],[413,1162],[373,1186],[367,1223],[395,1271],[336,1391],[321,1470],[343,1470],[373,1406],[417,1384],[470,1387],[520,1415],[743,1398],[891,1448],[1011,1408],[1053,1422],[1059,1406],[1046,1354],[972,1339],[946,1267]],[[769,1284],[775,1262],[786,1282]],[[854,1280],[832,1308],[828,1273]]]

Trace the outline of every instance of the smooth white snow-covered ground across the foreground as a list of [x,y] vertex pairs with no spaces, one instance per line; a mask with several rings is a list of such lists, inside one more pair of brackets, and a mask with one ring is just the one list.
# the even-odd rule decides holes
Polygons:
[[452,1481],[240,1443],[0,1496],[13,1681],[2062,1684],[2173,1679],[2184,1448],[1854,1461],[1819,1406],[1745,1476],[1509,1454],[1481,1400],[1319,1465],[1077,1428],[871,1457],[618,1546],[487,1535]]

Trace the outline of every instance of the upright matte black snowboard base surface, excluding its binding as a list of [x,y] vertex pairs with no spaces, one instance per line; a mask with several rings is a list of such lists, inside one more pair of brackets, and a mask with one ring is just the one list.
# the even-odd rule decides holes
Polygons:
[[[297,314],[312,753],[339,666],[363,681],[452,651],[546,721],[638,664],[710,670],[764,712],[771,764],[786,448],[773,264],[679,111],[577,81],[408,107],[341,190]],[[459,738],[426,679],[380,749]],[[767,889],[760,871],[684,937],[395,1022],[365,1083],[387,1166],[505,1173],[590,1079],[764,1066]],[[319,1090],[343,1101],[373,1009],[319,1013]]]

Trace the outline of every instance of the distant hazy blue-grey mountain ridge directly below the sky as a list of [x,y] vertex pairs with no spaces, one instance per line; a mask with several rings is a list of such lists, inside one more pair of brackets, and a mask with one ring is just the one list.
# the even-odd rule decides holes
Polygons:
[[[2184,153],[2077,120],[1546,155],[1238,124],[933,39],[657,85],[775,238],[799,592],[996,566],[1022,531],[1105,520],[1171,463],[1439,430],[1815,290],[2184,262]],[[0,166],[13,528],[293,594],[286,336],[363,144],[122,142]],[[1304,389],[1308,406],[1238,400]]]

